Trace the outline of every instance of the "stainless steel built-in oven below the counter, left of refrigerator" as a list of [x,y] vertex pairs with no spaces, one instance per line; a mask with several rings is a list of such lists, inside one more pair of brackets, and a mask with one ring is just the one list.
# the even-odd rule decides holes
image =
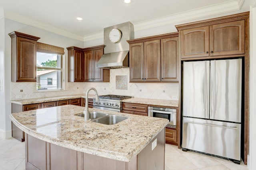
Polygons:
[[148,116],[168,119],[166,127],[176,128],[176,109],[149,106]]

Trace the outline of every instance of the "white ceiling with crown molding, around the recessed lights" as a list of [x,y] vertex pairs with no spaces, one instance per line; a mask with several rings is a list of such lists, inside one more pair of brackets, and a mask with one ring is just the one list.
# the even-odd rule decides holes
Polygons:
[[[240,10],[244,0],[0,0],[4,17],[79,40],[126,21],[135,31]],[[78,21],[76,17],[84,20]]]

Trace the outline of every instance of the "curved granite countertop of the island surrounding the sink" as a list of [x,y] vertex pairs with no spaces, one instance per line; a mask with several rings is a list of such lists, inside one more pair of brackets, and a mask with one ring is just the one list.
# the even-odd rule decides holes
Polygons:
[[168,124],[167,119],[89,108],[129,117],[115,125],[84,122],[84,107],[64,105],[12,113],[22,131],[43,141],[88,154],[129,162]]

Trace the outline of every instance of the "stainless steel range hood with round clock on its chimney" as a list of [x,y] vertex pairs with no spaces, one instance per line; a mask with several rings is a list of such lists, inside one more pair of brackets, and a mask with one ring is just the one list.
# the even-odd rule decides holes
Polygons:
[[127,40],[134,39],[134,27],[131,22],[125,22],[104,28],[104,55],[96,64],[97,68],[129,67],[129,44]]

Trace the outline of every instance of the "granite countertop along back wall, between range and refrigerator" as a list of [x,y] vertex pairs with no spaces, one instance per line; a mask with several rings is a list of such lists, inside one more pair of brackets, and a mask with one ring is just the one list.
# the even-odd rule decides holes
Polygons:
[[122,102],[148,104],[148,105],[158,105],[158,106],[179,107],[179,101],[178,100],[130,98],[130,99],[124,99],[124,100],[122,100]]

